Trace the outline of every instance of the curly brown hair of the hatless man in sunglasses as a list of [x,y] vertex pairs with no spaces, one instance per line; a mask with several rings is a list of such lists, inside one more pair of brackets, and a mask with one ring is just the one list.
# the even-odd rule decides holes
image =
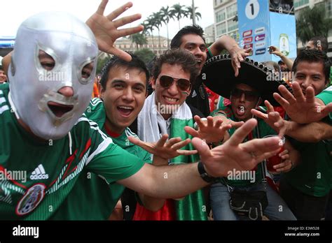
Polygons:
[[164,54],[160,55],[160,57],[155,60],[155,64],[153,66],[153,78],[155,80],[157,80],[160,75],[162,64],[180,65],[184,71],[191,74],[191,86],[193,86],[196,78],[200,74],[198,68],[196,67],[197,61],[195,56],[186,50],[167,50]]

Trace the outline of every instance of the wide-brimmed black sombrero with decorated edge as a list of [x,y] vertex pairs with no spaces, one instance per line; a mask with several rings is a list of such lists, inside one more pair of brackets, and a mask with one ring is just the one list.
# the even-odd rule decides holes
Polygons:
[[239,75],[235,77],[229,54],[223,54],[210,58],[202,68],[202,80],[205,85],[225,98],[230,98],[230,92],[236,84],[244,83],[256,89],[263,101],[268,100],[272,105],[279,106],[273,98],[273,93],[278,91],[279,85],[293,93],[289,84],[284,80],[278,80],[278,76],[272,74],[272,70],[258,61],[246,58],[241,62]]

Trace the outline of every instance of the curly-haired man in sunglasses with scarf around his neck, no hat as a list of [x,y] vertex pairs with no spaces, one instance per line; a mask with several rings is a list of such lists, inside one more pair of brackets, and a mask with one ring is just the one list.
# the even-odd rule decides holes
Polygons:
[[[195,127],[195,121],[200,124],[199,117],[203,115],[191,105],[186,103],[187,96],[198,75],[195,56],[185,50],[170,50],[162,54],[154,64],[152,87],[153,94],[146,98],[144,107],[137,119],[137,135],[145,142],[156,142],[163,134],[171,138],[181,137],[182,140],[192,138],[186,133],[185,127]],[[195,117],[198,115],[199,117]],[[194,119],[195,117],[195,119]],[[221,123],[219,123],[219,126]],[[211,134],[200,134],[207,142],[218,142],[226,135],[227,128],[216,126]],[[214,138],[215,135],[217,138]],[[186,149],[192,150],[191,144]],[[198,156],[178,156],[170,160],[170,164],[193,163]],[[207,213],[202,191],[196,191],[184,200],[167,200],[165,206],[156,213],[144,211],[138,207],[134,219],[160,219],[160,220],[205,220]],[[161,215],[164,214],[164,215]]]

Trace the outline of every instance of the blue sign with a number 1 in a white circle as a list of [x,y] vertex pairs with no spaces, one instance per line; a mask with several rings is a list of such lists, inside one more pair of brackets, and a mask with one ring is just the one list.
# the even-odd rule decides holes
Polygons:
[[269,3],[269,0],[237,0],[240,46],[252,47],[250,58],[256,61],[280,60],[268,52],[270,45],[275,45],[286,57],[295,58],[295,16],[289,11],[284,13],[284,5],[279,6],[280,13],[272,12]]

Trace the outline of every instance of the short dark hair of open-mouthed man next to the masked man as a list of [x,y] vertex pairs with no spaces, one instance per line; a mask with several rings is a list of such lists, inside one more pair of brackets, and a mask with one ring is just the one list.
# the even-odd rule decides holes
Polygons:
[[148,69],[144,64],[144,61],[139,59],[135,54],[127,52],[132,57],[131,61],[125,61],[120,59],[119,57],[113,56],[109,61],[106,62],[104,68],[102,68],[102,78],[100,78],[100,84],[102,85],[103,89],[106,89],[107,80],[109,80],[109,71],[111,68],[115,67],[125,67],[125,68],[136,68],[139,71],[145,73],[146,75],[146,89],[148,89],[148,80],[150,79],[150,74],[148,73]]

